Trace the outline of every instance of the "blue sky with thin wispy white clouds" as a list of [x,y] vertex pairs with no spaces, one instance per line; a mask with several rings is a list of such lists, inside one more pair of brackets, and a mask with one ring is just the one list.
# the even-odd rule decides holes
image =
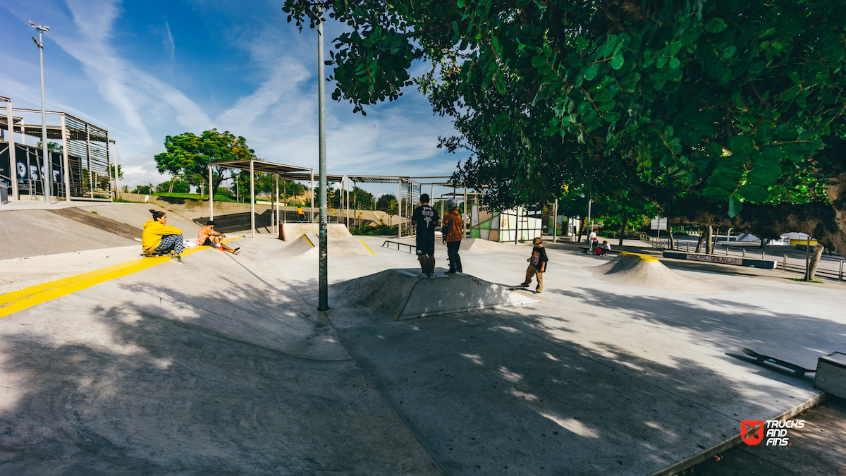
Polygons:
[[[164,151],[164,137],[212,127],[246,137],[261,158],[316,169],[316,31],[300,33],[286,23],[282,6],[283,0],[0,0],[0,96],[18,108],[41,108],[31,19],[50,26],[47,109],[109,130],[125,184],[165,180],[152,159]],[[339,28],[327,23],[327,38]],[[327,97],[332,89],[327,83]],[[415,88],[405,92],[398,102],[368,108],[365,117],[329,99],[329,173],[452,174],[464,156],[437,149],[437,136],[454,134],[452,121],[433,116]]]

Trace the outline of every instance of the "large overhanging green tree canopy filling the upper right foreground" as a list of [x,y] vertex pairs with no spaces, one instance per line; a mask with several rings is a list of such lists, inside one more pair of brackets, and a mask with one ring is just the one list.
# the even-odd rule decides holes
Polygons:
[[[495,206],[565,184],[721,219],[795,224],[846,250],[846,10],[822,0],[328,2],[336,99],[356,110],[416,80]],[[288,0],[298,25],[321,10]],[[603,170],[629,171],[625,180]],[[824,196],[802,197],[803,182]],[[804,180],[805,183],[808,180]],[[777,198],[774,200],[774,194]],[[684,203],[684,208],[678,208]],[[757,205],[755,205],[757,204]],[[753,206],[755,205],[755,206]],[[743,210],[743,211],[742,211]]]

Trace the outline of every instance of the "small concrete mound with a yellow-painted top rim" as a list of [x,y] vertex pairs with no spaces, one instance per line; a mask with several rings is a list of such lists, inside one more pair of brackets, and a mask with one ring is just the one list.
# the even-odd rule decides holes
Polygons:
[[698,280],[678,274],[664,266],[656,257],[640,253],[622,252],[612,261],[591,268],[597,279],[618,285],[670,291],[718,291],[722,289],[711,281]]

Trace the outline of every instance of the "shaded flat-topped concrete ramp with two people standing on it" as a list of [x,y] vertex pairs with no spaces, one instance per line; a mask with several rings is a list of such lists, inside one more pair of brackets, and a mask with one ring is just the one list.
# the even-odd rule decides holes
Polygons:
[[417,269],[387,269],[329,286],[336,329],[539,302],[469,274],[420,279]]

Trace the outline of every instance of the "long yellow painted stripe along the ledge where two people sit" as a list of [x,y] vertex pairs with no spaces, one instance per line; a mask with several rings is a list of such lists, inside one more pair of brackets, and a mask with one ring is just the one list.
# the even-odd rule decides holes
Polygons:
[[[227,243],[229,241],[239,240],[241,237],[229,238],[222,241]],[[209,249],[211,246],[197,246],[195,248],[188,248],[182,256],[188,256],[193,252]],[[133,274],[142,269],[152,268],[158,264],[170,261],[170,257],[142,257],[134,259],[127,263],[116,264],[108,268],[97,269],[96,271],[89,271],[88,273],[77,274],[69,278],[61,280],[50,281],[41,285],[34,285],[20,291],[12,291],[3,296],[0,296],[0,318],[5,318],[9,314],[23,311],[27,307],[33,307],[42,302],[51,301],[57,297],[67,296],[76,291],[90,288],[93,285],[99,285],[109,280],[121,278],[128,274]]]

